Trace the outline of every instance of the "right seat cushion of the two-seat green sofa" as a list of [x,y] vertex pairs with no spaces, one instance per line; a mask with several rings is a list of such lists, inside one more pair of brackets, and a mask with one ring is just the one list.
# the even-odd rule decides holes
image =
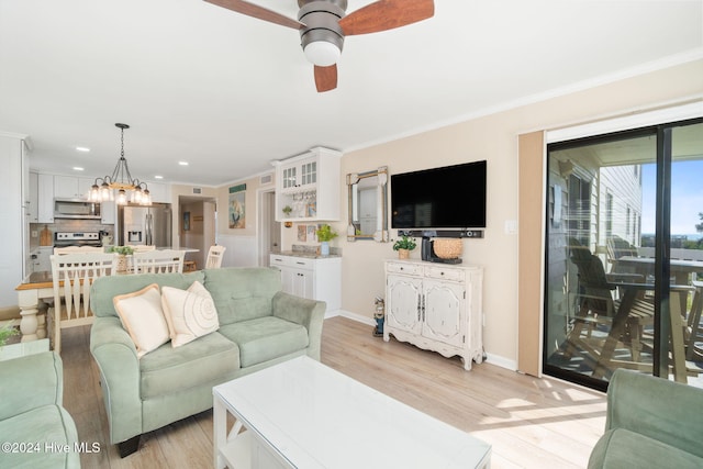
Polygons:
[[242,367],[250,367],[308,347],[308,330],[279,317],[266,316],[220,327],[239,347]]

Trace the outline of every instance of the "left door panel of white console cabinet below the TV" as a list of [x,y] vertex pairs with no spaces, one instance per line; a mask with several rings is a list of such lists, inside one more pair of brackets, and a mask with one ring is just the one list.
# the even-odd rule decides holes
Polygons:
[[391,327],[419,334],[420,322],[420,300],[422,291],[422,279],[388,276],[388,293],[390,299],[389,311],[386,313],[386,321]]

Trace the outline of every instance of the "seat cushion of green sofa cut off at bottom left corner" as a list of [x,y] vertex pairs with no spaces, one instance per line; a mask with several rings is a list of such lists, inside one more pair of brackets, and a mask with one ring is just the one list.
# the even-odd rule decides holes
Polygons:
[[[21,451],[3,450],[0,455],[3,468],[80,467],[80,454],[75,451],[78,442],[76,424],[58,405],[43,405],[0,421],[0,439],[32,445]],[[68,451],[65,450],[66,445]]]

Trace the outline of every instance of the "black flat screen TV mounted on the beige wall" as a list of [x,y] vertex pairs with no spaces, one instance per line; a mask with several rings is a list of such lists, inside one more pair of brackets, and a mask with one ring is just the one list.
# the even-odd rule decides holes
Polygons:
[[393,228],[484,228],[486,161],[391,175]]

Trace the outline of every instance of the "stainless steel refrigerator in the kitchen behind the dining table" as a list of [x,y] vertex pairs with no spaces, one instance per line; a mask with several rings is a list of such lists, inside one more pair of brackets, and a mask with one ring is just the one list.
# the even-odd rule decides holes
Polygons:
[[118,244],[171,247],[171,204],[149,206],[120,205],[118,208]]

